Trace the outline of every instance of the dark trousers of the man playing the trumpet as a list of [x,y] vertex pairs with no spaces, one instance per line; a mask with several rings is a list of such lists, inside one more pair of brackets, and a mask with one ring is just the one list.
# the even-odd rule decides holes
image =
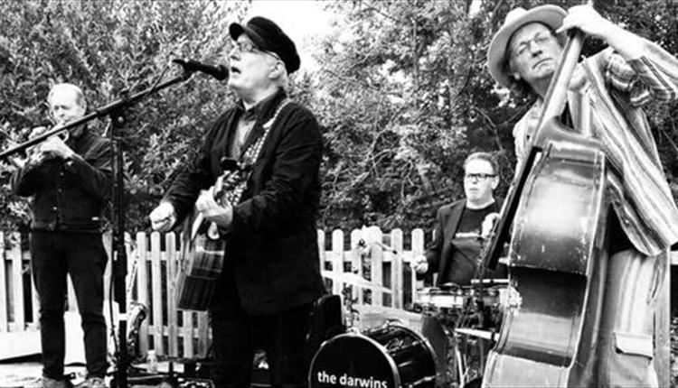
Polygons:
[[78,300],[88,374],[97,377],[106,374],[103,276],[107,260],[99,233],[33,231],[31,263],[40,300],[42,374],[45,376],[54,379],[63,376],[67,274],[71,275]]

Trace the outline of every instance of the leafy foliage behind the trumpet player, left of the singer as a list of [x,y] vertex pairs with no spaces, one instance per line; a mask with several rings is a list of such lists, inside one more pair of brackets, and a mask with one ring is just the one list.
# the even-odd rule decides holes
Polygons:
[[[228,23],[247,3],[176,0],[30,0],[0,2],[0,144],[22,142],[31,127],[48,118],[45,97],[57,82],[84,89],[89,108],[105,106],[151,87],[173,58],[211,59],[230,42]],[[163,73],[166,71],[166,73]],[[232,97],[209,79],[193,79],[124,112],[117,132],[125,156],[127,220],[146,226],[171,172],[197,148],[204,128]],[[108,120],[93,126],[106,133]],[[5,138],[5,139],[3,139]],[[2,170],[6,182],[11,168]],[[26,224],[26,201],[0,193],[3,229]]]

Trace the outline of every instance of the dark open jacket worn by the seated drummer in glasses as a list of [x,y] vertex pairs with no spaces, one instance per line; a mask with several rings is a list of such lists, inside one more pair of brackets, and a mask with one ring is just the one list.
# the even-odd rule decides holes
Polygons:
[[[497,209],[501,209],[502,199],[495,199],[495,204]],[[464,213],[464,208],[466,208],[466,199],[459,199],[438,209],[435,236],[431,243],[427,245],[425,253],[428,262],[428,272],[419,277],[438,273],[438,283],[436,285],[441,285],[440,280],[442,276],[440,274],[446,271],[449,266],[448,261],[452,259],[452,250],[455,249],[454,245],[452,245],[452,238],[457,233],[457,227]],[[504,267],[503,264],[500,265]],[[505,268],[501,268],[500,271],[505,272]]]

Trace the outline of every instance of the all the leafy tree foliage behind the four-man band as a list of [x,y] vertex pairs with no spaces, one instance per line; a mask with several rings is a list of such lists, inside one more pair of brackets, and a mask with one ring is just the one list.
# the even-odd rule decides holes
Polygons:
[[[513,124],[530,101],[495,86],[485,69],[486,49],[511,9],[545,2],[484,0],[473,14],[472,3],[326,3],[336,18],[313,51],[319,67],[296,74],[291,86],[325,134],[321,227],[432,226],[439,206],[463,197],[462,162],[474,151],[496,155],[499,192],[505,193],[515,162]],[[44,98],[55,82],[79,84],[95,107],[148,88],[172,58],[225,61],[228,23],[240,20],[247,6],[216,0],[0,2],[0,146],[23,141],[45,120]],[[598,0],[595,6],[678,53],[676,3]],[[602,47],[589,41],[585,53]],[[165,79],[176,74],[172,68]],[[132,230],[147,226],[146,215],[173,171],[232,101],[223,85],[195,76],[127,112],[121,138]],[[648,113],[664,166],[678,176],[676,104],[651,106]],[[99,131],[105,126],[96,125]],[[0,181],[10,171],[1,169]],[[4,185],[0,202],[0,228],[25,225],[24,199]]]

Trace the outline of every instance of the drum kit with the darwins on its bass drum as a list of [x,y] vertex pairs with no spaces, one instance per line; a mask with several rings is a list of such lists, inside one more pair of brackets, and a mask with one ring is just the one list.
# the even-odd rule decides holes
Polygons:
[[[345,275],[336,280],[376,287],[364,279],[352,282]],[[417,291],[416,314],[407,312],[403,318],[402,313],[393,313],[389,319],[386,311],[378,326],[349,325],[344,334],[327,339],[311,362],[309,387],[480,386],[485,357],[507,305],[507,290],[507,280],[490,279],[466,287],[448,284]]]

